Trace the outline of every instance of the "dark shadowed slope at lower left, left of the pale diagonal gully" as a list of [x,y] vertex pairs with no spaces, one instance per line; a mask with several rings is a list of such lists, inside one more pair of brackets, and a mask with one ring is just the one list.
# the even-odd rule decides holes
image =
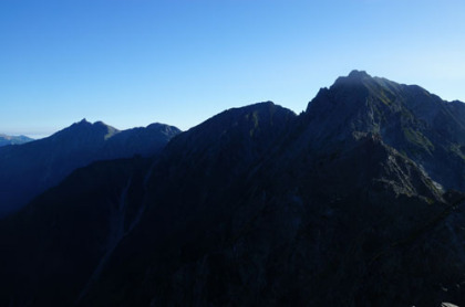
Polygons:
[[3,219],[0,305],[72,306],[135,225],[149,166],[94,162]]

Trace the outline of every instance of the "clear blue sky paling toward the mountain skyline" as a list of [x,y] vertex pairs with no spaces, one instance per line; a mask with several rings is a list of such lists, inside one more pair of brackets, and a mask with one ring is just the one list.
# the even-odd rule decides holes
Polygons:
[[463,0],[0,0],[0,133],[300,113],[353,68],[465,102]]

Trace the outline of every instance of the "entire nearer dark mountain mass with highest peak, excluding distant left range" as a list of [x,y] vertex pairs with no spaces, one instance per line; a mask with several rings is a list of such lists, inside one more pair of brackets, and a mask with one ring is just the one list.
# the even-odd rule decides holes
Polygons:
[[461,305],[464,115],[354,71],[82,168],[0,223],[1,303]]

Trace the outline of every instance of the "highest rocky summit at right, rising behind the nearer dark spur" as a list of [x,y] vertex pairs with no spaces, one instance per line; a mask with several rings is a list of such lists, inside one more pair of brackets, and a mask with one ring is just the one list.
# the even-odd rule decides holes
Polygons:
[[323,88],[307,108],[309,141],[374,134],[446,189],[465,190],[465,104],[444,102],[416,85],[352,72]]

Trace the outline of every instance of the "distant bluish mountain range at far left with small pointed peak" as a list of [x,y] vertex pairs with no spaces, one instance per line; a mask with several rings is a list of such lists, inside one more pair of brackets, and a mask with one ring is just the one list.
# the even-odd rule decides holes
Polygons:
[[0,148],[0,216],[14,212],[73,170],[97,160],[152,156],[180,133],[153,124],[120,131],[85,119],[44,139]]

